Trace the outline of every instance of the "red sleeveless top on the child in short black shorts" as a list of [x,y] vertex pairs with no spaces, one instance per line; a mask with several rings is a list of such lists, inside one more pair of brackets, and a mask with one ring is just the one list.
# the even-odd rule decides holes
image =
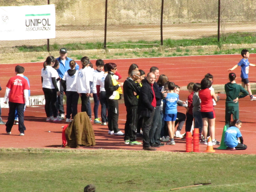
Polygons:
[[211,112],[213,109],[213,101],[210,89],[202,89],[198,93],[201,99],[201,112]]

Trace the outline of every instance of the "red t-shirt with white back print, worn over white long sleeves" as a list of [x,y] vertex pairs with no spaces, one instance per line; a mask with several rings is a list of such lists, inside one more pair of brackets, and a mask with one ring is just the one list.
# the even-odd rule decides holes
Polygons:
[[28,81],[19,75],[11,77],[6,87],[11,89],[9,101],[13,103],[25,103],[24,90],[29,90]]

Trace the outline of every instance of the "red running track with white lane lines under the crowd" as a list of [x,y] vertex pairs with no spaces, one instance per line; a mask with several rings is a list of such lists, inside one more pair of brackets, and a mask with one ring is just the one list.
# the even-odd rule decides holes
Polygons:
[[[255,54],[251,54],[250,62],[256,63]],[[136,63],[140,69],[144,70],[146,74],[149,68],[157,66],[160,74],[168,76],[169,80],[173,81],[179,86],[186,86],[189,82],[200,82],[206,73],[211,73],[214,76],[214,84],[225,84],[228,82],[228,68],[232,68],[241,59],[241,55],[205,55],[205,56],[185,56],[185,57],[167,57],[167,58],[142,58],[142,59],[118,59],[118,60],[104,60],[107,62],[114,62],[117,64],[118,72],[123,76],[120,80],[124,82],[127,76],[128,68],[132,63]],[[80,65],[80,62],[77,61]],[[95,63],[95,60],[92,60]],[[4,97],[5,85],[11,76],[14,76],[14,67],[17,64],[1,64],[0,83],[2,91],[0,96]],[[30,80],[31,95],[42,95],[41,88],[41,69],[43,63],[22,63],[19,64],[25,67],[25,76]],[[233,72],[240,76],[240,68]],[[255,81],[256,68],[250,67],[249,79],[251,82]],[[241,79],[238,77],[237,82]],[[180,99],[186,100],[188,96],[187,91],[180,92]],[[216,112],[216,133],[217,140],[221,140],[223,126],[225,124],[225,98],[226,95],[220,94],[220,101],[215,107]],[[248,148],[244,151],[227,151],[216,150],[216,153],[232,153],[232,154],[256,154],[254,148],[254,138],[256,138],[255,125],[255,102],[250,101],[249,97],[245,97],[240,102],[240,119],[243,122],[241,132],[244,138],[244,144]],[[92,103],[93,107],[93,103]],[[80,111],[80,107],[78,107]],[[185,108],[178,107],[178,111],[185,113]],[[119,128],[124,132],[124,123],[126,118],[126,110],[123,100],[119,103]],[[100,109],[99,109],[100,114]],[[8,109],[2,108],[2,118],[6,122],[8,116]],[[93,114],[92,114],[93,116]],[[45,112],[43,106],[36,106],[27,108],[25,111],[25,125],[27,131],[25,136],[18,136],[18,126],[14,125],[12,135],[5,133],[5,126],[0,125],[0,147],[2,148],[60,148],[61,145],[61,131],[60,128],[64,124],[45,122]],[[142,150],[142,146],[129,146],[124,144],[123,137],[108,135],[107,126],[93,124],[93,129],[96,136],[96,146],[94,147],[80,147],[88,149],[130,149]],[[51,131],[51,132],[48,132]],[[183,127],[182,132],[185,131]],[[140,141],[141,138],[138,138]],[[157,148],[160,151],[180,151],[185,152],[185,141],[175,139],[175,146],[167,146]],[[216,149],[218,146],[213,146]],[[206,149],[206,145],[199,145],[200,152]]]

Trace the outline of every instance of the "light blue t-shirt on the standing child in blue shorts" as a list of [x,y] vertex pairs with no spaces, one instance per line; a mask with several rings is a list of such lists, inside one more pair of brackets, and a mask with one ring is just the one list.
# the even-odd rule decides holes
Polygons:
[[179,100],[179,95],[177,93],[168,93],[165,100],[165,114],[175,114],[177,113],[177,102]]

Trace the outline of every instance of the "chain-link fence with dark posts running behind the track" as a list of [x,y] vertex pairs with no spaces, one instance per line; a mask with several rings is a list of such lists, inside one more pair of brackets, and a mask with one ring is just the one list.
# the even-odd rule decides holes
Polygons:
[[[102,48],[104,40],[107,45],[140,41],[160,44],[161,10],[163,39],[217,36],[219,2],[221,41],[227,41],[230,33],[255,33],[254,0],[4,0],[0,6],[55,4],[56,38],[49,43],[57,49],[85,43]],[[46,44],[46,39],[0,41],[1,47]]]

